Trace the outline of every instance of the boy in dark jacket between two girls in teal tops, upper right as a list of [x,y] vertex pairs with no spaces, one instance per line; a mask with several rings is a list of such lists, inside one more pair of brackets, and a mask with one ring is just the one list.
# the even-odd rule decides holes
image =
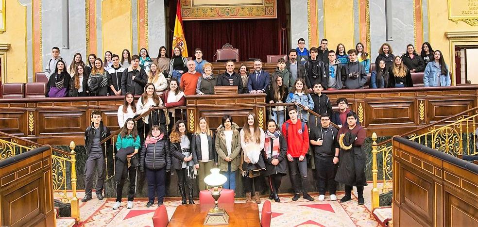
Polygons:
[[342,82],[346,89],[363,89],[367,82],[367,73],[362,64],[357,60],[357,50],[349,49],[347,51],[350,62],[342,67]]

